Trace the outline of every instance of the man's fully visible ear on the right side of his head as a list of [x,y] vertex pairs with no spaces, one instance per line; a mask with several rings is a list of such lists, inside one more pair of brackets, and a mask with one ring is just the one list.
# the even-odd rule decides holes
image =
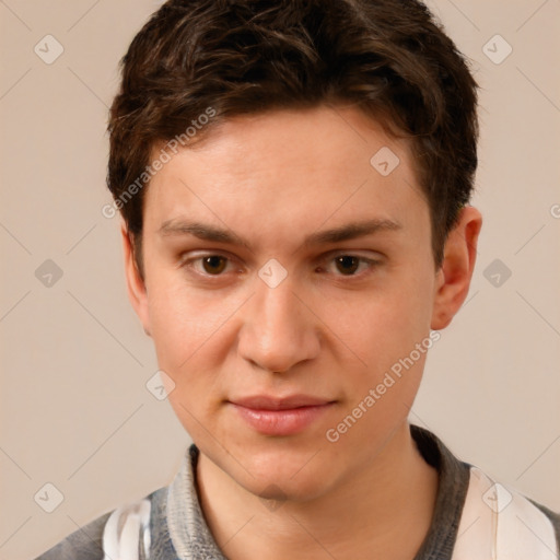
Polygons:
[[482,215],[472,207],[464,208],[445,242],[441,268],[436,272],[431,328],[445,328],[467,298],[477,257]]

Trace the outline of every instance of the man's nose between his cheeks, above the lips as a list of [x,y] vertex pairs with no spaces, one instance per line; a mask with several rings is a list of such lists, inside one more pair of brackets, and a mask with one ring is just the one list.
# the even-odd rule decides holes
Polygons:
[[244,308],[238,351],[253,365],[284,373],[316,358],[319,324],[287,279],[276,288],[257,280],[255,295]]

